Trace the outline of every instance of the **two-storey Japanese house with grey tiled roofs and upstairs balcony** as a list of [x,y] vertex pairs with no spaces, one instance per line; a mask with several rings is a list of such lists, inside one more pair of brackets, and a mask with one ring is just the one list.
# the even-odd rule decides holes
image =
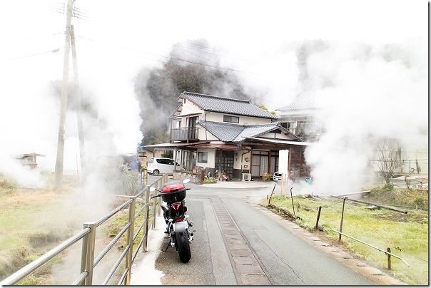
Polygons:
[[280,125],[275,115],[250,101],[183,92],[171,114],[171,142],[146,148],[174,150],[178,163],[207,175],[223,171],[260,177],[278,170],[278,151],[289,150],[291,176],[306,176],[303,150],[309,143]]

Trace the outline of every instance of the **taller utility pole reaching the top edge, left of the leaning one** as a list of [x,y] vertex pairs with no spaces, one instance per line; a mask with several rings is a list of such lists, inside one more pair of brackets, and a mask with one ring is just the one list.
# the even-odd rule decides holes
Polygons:
[[59,120],[59,140],[57,145],[56,158],[56,182],[55,187],[61,187],[61,179],[63,178],[63,160],[64,160],[64,123],[66,122],[67,111],[67,92],[69,88],[69,49],[71,46],[71,21],[72,21],[73,0],[67,1],[66,8],[66,32],[64,33],[64,60],[63,60],[63,86],[61,87],[61,103],[60,103],[60,120]]

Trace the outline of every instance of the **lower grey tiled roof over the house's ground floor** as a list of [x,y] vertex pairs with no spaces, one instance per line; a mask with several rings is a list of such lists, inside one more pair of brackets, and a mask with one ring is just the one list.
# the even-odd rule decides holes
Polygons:
[[302,139],[290,133],[280,126],[279,123],[270,123],[262,125],[235,125],[228,123],[218,123],[209,121],[199,121],[199,125],[208,130],[216,138],[224,142],[241,142],[245,138],[258,137],[273,130],[280,129],[290,135],[292,138],[302,141]]

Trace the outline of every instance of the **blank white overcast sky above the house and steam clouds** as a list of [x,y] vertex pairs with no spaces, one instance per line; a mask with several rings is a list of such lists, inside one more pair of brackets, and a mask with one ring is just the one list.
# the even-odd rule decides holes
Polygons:
[[[54,169],[62,76],[64,1],[0,1],[0,129],[4,155],[49,155]],[[60,7],[60,8],[59,8]],[[246,90],[265,93],[271,109],[298,93],[295,47],[323,40],[340,46],[417,43],[427,65],[427,1],[107,1],[76,0],[78,71],[120,152],[141,140],[133,78],[161,66],[173,43],[206,39]],[[50,53],[56,48],[61,50]],[[193,47],[185,53],[193,54]],[[72,75],[72,73],[71,73]],[[69,146],[68,143],[70,144]],[[73,168],[76,115],[68,114],[66,158]]]

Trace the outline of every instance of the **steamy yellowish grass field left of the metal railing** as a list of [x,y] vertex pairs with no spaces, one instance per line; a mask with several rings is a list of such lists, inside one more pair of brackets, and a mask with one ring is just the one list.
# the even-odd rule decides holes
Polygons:
[[[76,232],[72,227],[73,215],[65,213],[65,199],[72,191],[72,182],[70,179],[66,183],[66,190],[53,192],[49,188],[16,187],[0,178],[0,279]],[[60,261],[61,257],[54,257],[21,284],[49,284],[51,267]]]

